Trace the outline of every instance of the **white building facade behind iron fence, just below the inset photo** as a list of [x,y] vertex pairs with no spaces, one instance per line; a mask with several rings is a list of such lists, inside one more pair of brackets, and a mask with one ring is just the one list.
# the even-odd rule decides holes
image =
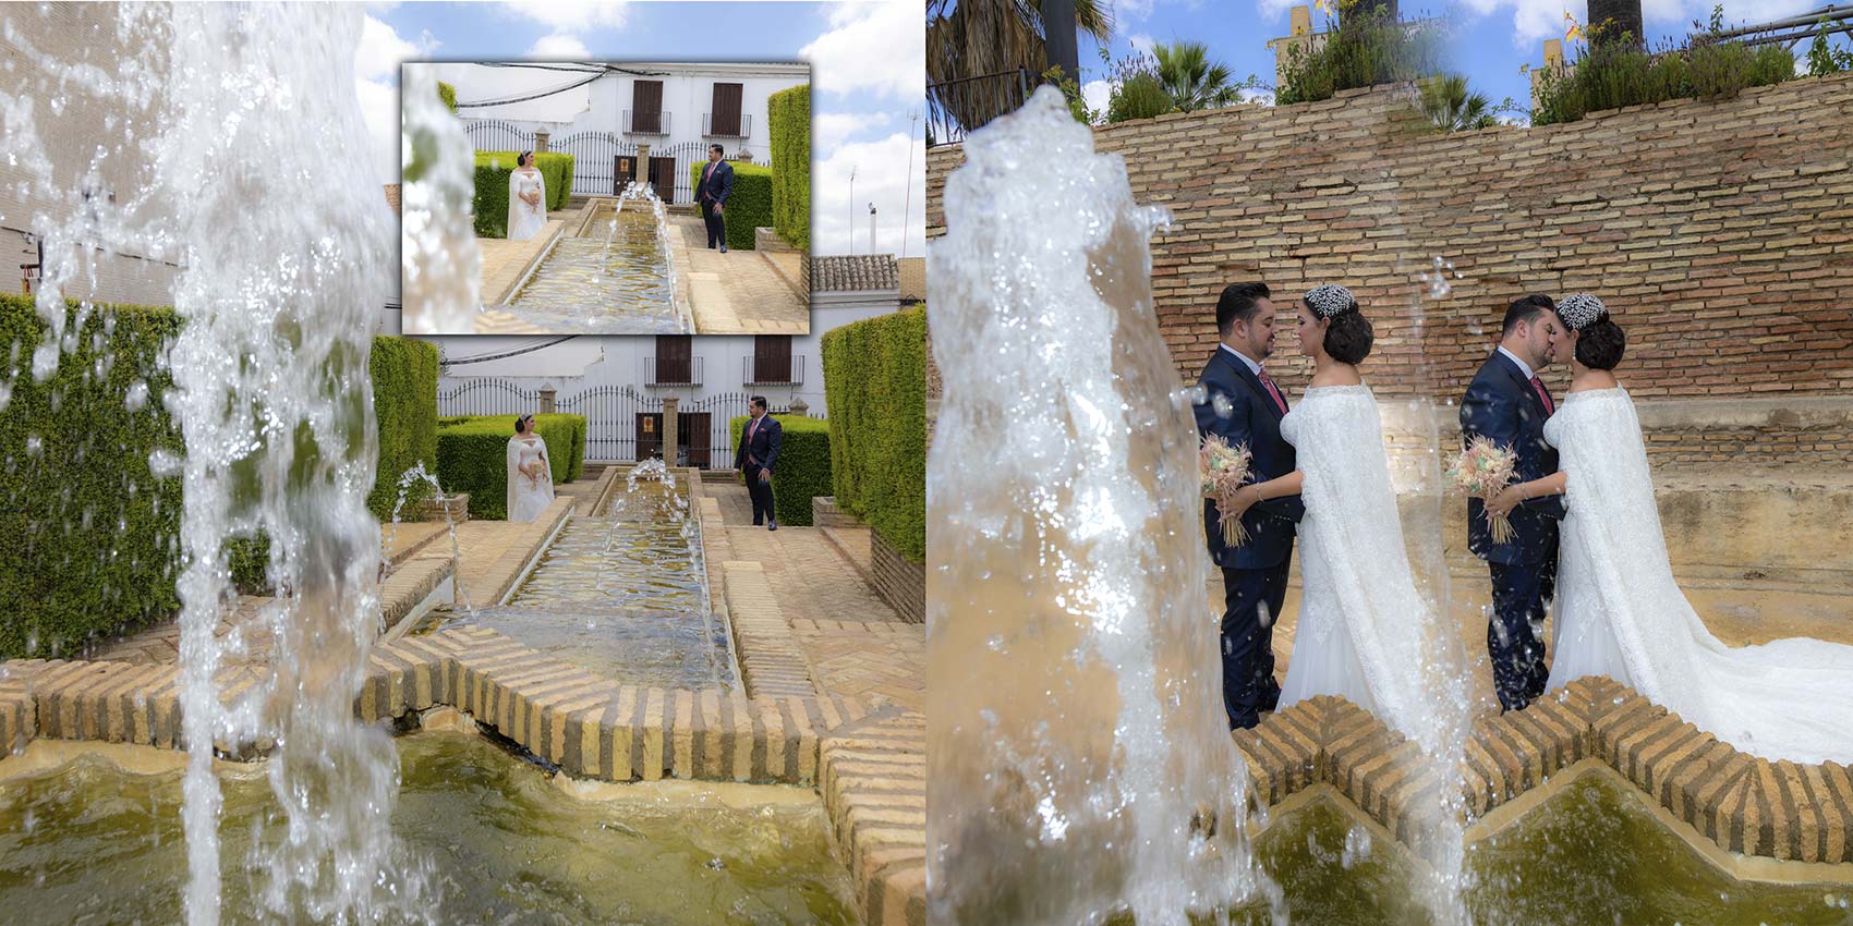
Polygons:
[[[558,344],[548,337],[434,337],[450,363],[437,382],[437,413],[552,407],[586,415],[586,459],[615,463],[662,456],[663,400],[674,398],[676,463],[728,469],[730,422],[747,413],[750,396],[765,396],[778,413],[802,407],[808,417],[828,417],[825,332],[901,309],[899,285],[893,256],[817,257],[808,335],[576,337]],[[537,350],[515,354],[524,348]]]

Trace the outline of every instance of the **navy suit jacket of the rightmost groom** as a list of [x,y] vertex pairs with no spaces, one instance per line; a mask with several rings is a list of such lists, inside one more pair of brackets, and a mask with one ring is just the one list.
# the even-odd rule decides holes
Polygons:
[[[1549,393],[1549,391],[1547,391]],[[1555,402],[1555,400],[1553,400]],[[1460,402],[1460,444],[1484,435],[1518,452],[1514,482],[1531,482],[1557,472],[1557,448],[1544,441],[1549,419],[1544,398],[1512,357],[1494,350],[1468,383]],[[1557,522],[1564,517],[1564,496],[1547,494],[1519,502],[1512,509],[1512,543],[1497,544],[1486,524],[1486,504],[1468,498],[1468,550],[1488,563],[1538,565],[1557,556]]]

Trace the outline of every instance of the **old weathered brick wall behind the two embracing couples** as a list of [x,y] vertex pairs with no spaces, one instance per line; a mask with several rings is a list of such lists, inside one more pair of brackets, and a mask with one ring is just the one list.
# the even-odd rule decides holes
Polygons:
[[[1216,344],[1221,287],[1260,278],[1277,294],[1351,287],[1377,326],[1364,372],[1380,394],[1458,396],[1505,304],[1532,291],[1601,294],[1642,398],[1853,389],[1853,74],[1456,135],[1419,131],[1405,100],[1377,87],[1095,131],[1134,196],[1177,219],[1153,289],[1180,376]],[[962,157],[926,156],[928,237]],[[1436,256],[1460,272],[1438,300],[1418,280]],[[1292,354],[1282,330],[1273,369],[1297,389],[1310,363]],[[1547,376],[1568,383],[1566,367]],[[1844,437],[1827,448],[1853,459]]]

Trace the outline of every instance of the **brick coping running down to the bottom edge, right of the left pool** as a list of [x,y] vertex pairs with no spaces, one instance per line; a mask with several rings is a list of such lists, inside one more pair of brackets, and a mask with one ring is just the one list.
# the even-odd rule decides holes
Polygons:
[[823,741],[823,791],[867,926],[926,922],[926,717],[880,711]]

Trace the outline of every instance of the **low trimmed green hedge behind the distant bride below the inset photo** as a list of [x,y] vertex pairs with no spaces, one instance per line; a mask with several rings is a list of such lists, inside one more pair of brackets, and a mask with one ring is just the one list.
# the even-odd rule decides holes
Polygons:
[[[473,519],[508,519],[508,439],[515,435],[517,417],[437,419],[437,482],[447,493],[469,493]],[[554,485],[578,480],[586,469],[586,417],[536,415],[534,430],[547,441]]]

